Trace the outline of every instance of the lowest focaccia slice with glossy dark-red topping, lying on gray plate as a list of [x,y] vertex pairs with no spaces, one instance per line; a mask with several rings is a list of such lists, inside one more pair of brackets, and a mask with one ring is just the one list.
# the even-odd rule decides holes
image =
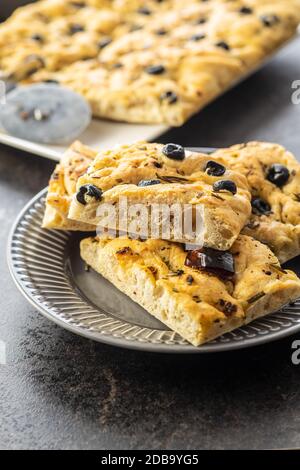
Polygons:
[[[230,252],[185,252],[161,240],[87,238],[82,259],[198,346],[300,296],[300,280],[268,247],[241,235]],[[206,266],[206,267],[204,267]]]

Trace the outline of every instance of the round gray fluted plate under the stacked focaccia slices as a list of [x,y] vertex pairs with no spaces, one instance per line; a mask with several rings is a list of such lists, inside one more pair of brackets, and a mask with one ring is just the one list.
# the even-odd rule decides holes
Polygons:
[[[32,305],[58,325],[103,343],[167,353],[250,347],[300,330],[300,299],[201,347],[193,347],[92,270],[79,256],[84,235],[41,229],[46,189],[23,209],[8,244],[11,274]],[[295,268],[295,266],[293,266]]]

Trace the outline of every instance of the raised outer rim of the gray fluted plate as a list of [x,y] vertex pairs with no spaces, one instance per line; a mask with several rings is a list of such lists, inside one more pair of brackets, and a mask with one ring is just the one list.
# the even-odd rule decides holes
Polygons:
[[[192,150],[192,148],[189,148]],[[198,151],[212,151],[214,150],[211,147],[193,147],[194,150]],[[290,327],[287,327],[280,331],[275,331],[270,333],[269,335],[261,335],[255,336],[254,338],[249,338],[245,341],[245,339],[239,339],[235,342],[228,342],[228,343],[217,343],[216,345],[208,346],[210,343],[204,344],[199,347],[195,347],[190,344],[157,344],[154,342],[142,342],[139,340],[129,340],[122,337],[116,337],[112,335],[106,335],[101,332],[93,332],[91,330],[84,329],[80,326],[71,324],[66,322],[65,320],[53,315],[53,313],[49,312],[42,303],[39,303],[34,295],[30,294],[30,290],[26,288],[25,284],[21,281],[19,274],[15,270],[13,257],[12,257],[12,242],[13,237],[16,232],[18,225],[20,224],[21,220],[24,218],[24,215],[27,211],[32,207],[36,202],[38,202],[42,197],[44,197],[47,193],[47,187],[39,191],[33,198],[31,198],[27,204],[23,207],[23,209],[17,215],[13,226],[10,229],[9,236],[8,236],[8,243],[6,249],[6,258],[7,264],[9,268],[10,275],[14,280],[15,285],[17,286],[18,290],[23,294],[23,296],[28,300],[28,302],[38,310],[45,318],[54,322],[58,326],[77,334],[81,337],[86,339],[94,340],[100,343],[104,343],[110,346],[117,346],[125,349],[133,349],[139,350],[143,352],[155,352],[155,353],[168,353],[168,354],[204,354],[204,353],[218,353],[218,352],[226,352],[226,351],[233,351],[238,349],[246,349],[249,347],[261,346],[266,343],[270,343],[273,341],[277,341],[279,339],[283,339],[285,337],[291,336],[296,334],[300,331],[300,321],[299,324],[293,324]],[[125,294],[124,294],[125,295]],[[85,300],[86,301],[86,300]],[[276,313],[276,312],[274,312]],[[272,315],[272,314],[271,314]]]

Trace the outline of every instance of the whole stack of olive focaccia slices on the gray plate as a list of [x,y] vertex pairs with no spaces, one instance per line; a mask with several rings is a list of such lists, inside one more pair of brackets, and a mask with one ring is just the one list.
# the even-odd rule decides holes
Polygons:
[[[300,254],[299,193],[300,165],[275,144],[208,155],[137,142],[96,154],[76,142],[50,180],[44,227],[97,229],[81,242],[82,259],[198,346],[300,296],[300,280],[280,265]],[[124,199],[140,208],[125,225]],[[157,205],[176,207],[181,222],[191,207],[194,230],[179,232],[170,212],[153,234]]]

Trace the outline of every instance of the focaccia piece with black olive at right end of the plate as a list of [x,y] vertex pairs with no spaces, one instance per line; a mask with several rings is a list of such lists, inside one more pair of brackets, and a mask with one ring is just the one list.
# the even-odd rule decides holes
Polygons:
[[250,142],[212,155],[244,174],[252,215],[243,233],[267,244],[281,263],[300,255],[300,164],[277,144]]

